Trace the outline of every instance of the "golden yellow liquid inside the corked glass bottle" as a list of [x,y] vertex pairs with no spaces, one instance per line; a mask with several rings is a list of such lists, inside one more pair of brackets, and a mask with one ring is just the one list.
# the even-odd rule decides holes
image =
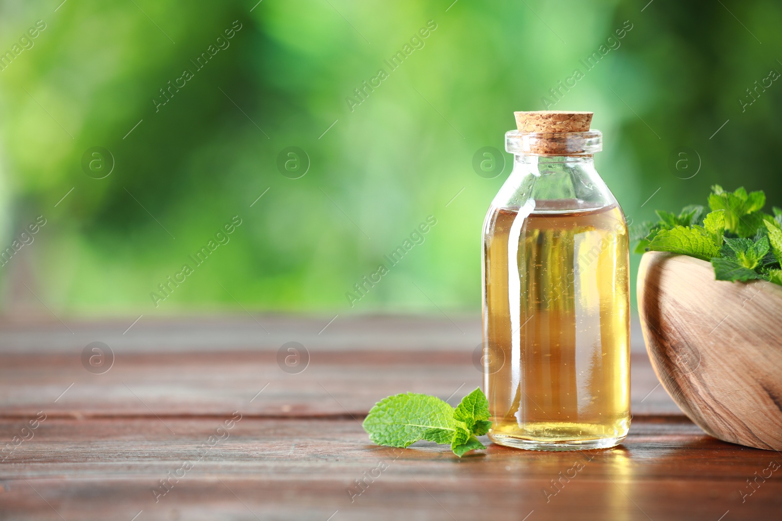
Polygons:
[[[484,369],[499,444],[606,448],[630,427],[628,235],[617,205],[484,228]],[[565,202],[567,204],[567,202]]]

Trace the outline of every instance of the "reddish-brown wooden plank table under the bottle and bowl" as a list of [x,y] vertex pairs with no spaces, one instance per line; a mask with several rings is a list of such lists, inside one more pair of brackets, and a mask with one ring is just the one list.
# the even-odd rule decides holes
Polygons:
[[[625,443],[457,459],[375,446],[361,419],[389,394],[477,387],[475,317],[245,318],[0,323],[0,519],[782,518],[782,455],[703,434],[637,328]],[[94,341],[106,373],[82,365]],[[278,365],[289,341],[300,373]]]

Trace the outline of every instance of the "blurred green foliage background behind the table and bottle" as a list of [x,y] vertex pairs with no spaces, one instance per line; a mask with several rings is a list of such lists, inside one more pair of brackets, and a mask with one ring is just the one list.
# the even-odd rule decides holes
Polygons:
[[[7,313],[475,312],[511,156],[493,179],[472,159],[504,150],[515,110],[594,111],[598,171],[630,219],[705,203],[714,183],[782,205],[779,2],[60,2],[0,4],[0,248],[32,240],[0,267]],[[364,80],[380,83],[361,100]],[[771,84],[750,98],[755,81]],[[108,177],[94,178],[109,159],[82,166],[92,147],[113,156]],[[278,169],[288,147],[303,177]],[[346,292],[427,216],[423,243],[351,308]]]

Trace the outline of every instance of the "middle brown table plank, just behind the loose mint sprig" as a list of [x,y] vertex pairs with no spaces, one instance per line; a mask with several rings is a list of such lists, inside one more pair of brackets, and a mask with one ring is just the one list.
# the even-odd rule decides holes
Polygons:
[[[105,374],[88,373],[80,355],[0,355],[0,416],[40,410],[55,416],[213,416],[237,409],[256,416],[361,416],[378,399],[407,391],[450,397],[456,405],[482,382],[469,351],[425,348],[317,351],[299,374],[282,371],[269,351],[119,353]],[[680,414],[658,387],[648,356],[631,360],[633,411]]]

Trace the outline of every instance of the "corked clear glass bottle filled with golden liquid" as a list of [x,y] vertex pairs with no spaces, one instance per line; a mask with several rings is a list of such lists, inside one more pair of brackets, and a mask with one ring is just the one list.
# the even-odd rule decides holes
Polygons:
[[[625,216],[594,168],[591,112],[516,112],[508,180],[483,224],[489,437],[608,448],[630,427]],[[584,119],[587,119],[586,123]]]

